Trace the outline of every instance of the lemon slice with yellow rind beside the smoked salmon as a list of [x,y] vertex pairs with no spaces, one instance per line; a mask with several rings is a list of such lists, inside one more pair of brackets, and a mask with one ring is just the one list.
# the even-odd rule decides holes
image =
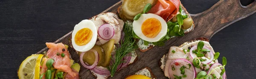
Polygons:
[[28,56],[21,64],[18,71],[19,79],[39,79],[40,62],[42,54]]

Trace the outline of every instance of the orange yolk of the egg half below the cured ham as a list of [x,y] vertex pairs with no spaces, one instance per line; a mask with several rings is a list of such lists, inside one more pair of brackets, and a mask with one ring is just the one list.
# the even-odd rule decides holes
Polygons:
[[162,25],[156,18],[148,18],[141,25],[142,33],[148,38],[157,37],[162,29]]

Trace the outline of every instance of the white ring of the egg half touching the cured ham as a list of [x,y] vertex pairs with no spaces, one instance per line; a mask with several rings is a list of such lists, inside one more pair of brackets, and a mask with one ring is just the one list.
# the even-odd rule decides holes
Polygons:
[[[159,32],[159,34],[157,34],[156,37],[154,38],[148,38],[146,37],[142,31],[141,31],[141,26],[143,24],[143,22],[145,20],[147,20],[148,18],[156,18],[157,20],[160,21],[162,29]],[[162,37],[166,36],[167,33],[167,23],[165,22],[165,20],[163,20],[162,17],[156,15],[156,14],[142,14],[140,16],[140,18],[138,20],[134,20],[133,22],[133,31],[134,33],[140,37],[142,40],[148,41],[148,42],[157,42],[159,41]]]

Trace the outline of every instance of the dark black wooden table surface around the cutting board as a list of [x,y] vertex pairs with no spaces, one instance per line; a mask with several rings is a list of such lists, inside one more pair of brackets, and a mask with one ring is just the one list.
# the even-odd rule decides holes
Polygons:
[[[17,69],[27,56],[45,48],[119,0],[0,0],[0,79],[17,79]],[[254,0],[243,0],[248,4]],[[181,0],[190,14],[207,10],[218,0]],[[209,24],[210,25],[210,24]],[[255,79],[256,14],[216,33],[210,40],[227,58],[229,79]],[[153,71],[154,72],[154,71]]]

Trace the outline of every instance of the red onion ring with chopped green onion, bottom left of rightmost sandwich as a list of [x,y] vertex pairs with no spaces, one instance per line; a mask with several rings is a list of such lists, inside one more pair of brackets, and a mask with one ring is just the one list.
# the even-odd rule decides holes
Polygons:
[[[195,71],[195,67],[193,66],[193,64],[191,63],[191,62],[189,62],[188,60],[186,60],[186,59],[175,59],[171,64],[170,64],[170,66],[169,66],[169,76],[171,77],[171,76],[173,76],[173,73],[172,73],[172,66],[171,65],[174,65],[174,66],[176,66],[175,65],[175,62],[177,62],[177,61],[183,61],[183,62],[187,62],[187,63],[189,63],[190,65],[191,65],[191,67],[190,68],[193,68],[192,70],[194,70],[194,73],[193,73],[193,77],[191,78],[191,79],[194,79],[195,78],[195,76],[196,76],[196,71]],[[179,63],[180,65],[181,65],[181,63]],[[183,66],[183,65],[182,65]],[[181,66],[180,66],[181,67]],[[176,70],[178,70],[178,71],[180,71],[179,70],[179,68],[178,69],[176,69]],[[179,73],[180,74],[180,73]],[[187,75],[187,77],[189,77],[190,76],[190,74],[186,74]],[[174,79],[174,78],[171,78],[171,79]]]

